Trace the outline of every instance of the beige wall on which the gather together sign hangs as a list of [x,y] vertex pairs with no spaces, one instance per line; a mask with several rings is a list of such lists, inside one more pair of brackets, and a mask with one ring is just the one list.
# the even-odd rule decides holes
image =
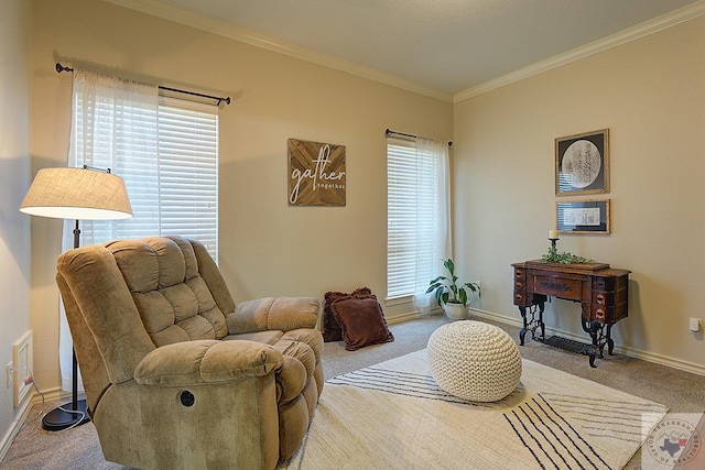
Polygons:
[[[219,264],[236,300],[386,292],[384,129],[449,140],[453,106],[110,3],[35,0],[34,171],[65,165],[70,75],[54,63],[227,94],[220,110]],[[347,206],[289,207],[286,140],[346,145]],[[32,323],[42,386],[59,384],[54,266],[61,222],[32,231]],[[388,316],[408,306],[386,308]],[[41,338],[40,340],[37,340]]]

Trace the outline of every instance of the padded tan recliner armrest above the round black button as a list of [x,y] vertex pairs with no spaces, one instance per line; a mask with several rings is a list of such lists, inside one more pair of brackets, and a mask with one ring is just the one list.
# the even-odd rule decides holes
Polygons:
[[147,354],[134,370],[140,385],[223,383],[270,374],[284,365],[281,352],[246,340],[182,341]]

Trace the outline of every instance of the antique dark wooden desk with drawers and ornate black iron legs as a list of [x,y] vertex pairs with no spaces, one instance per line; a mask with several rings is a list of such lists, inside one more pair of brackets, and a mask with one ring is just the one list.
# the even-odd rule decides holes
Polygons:
[[[523,327],[519,332],[521,346],[527,331],[534,340],[545,340],[543,309],[546,297],[553,296],[582,305],[583,330],[590,335],[588,349],[590,367],[595,367],[595,353],[607,345],[612,354],[614,324],[628,315],[628,270],[612,270],[609,264],[560,264],[525,261],[512,264],[514,269],[514,305],[519,307]],[[538,314],[538,316],[536,316]],[[530,316],[530,318],[528,317]],[[540,335],[536,335],[540,330]],[[606,331],[605,331],[606,330]]]

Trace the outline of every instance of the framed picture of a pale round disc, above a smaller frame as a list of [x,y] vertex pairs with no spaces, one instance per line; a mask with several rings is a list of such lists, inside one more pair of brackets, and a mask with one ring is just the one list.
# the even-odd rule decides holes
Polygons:
[[609,193],[609,129],[555,140],[555,195]]

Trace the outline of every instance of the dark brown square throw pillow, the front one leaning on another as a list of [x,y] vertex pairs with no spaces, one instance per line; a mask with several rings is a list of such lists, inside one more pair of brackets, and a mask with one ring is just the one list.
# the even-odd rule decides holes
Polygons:
[[341,298],[334,302],[330,309],[340,325],[345,349],[348,351],[394,340],[375,295]]

